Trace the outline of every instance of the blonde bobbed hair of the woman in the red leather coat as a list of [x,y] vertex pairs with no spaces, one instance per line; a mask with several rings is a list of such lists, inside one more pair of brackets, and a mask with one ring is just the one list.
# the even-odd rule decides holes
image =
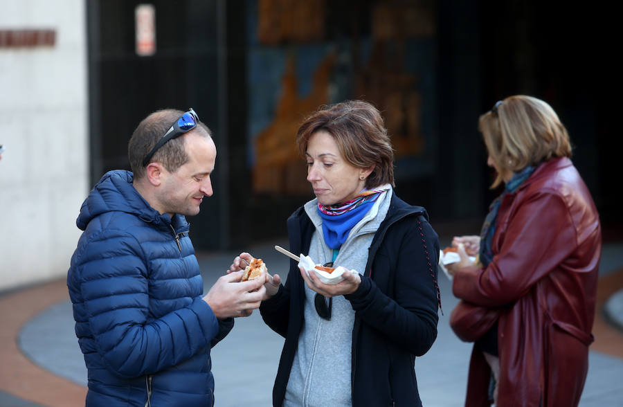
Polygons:
[[498,168],[491,188],[505,174],[536,166],[554,157],[570,157],[567,129],[543,100],[532,96],[509,96],[478,119],[487,152]]

